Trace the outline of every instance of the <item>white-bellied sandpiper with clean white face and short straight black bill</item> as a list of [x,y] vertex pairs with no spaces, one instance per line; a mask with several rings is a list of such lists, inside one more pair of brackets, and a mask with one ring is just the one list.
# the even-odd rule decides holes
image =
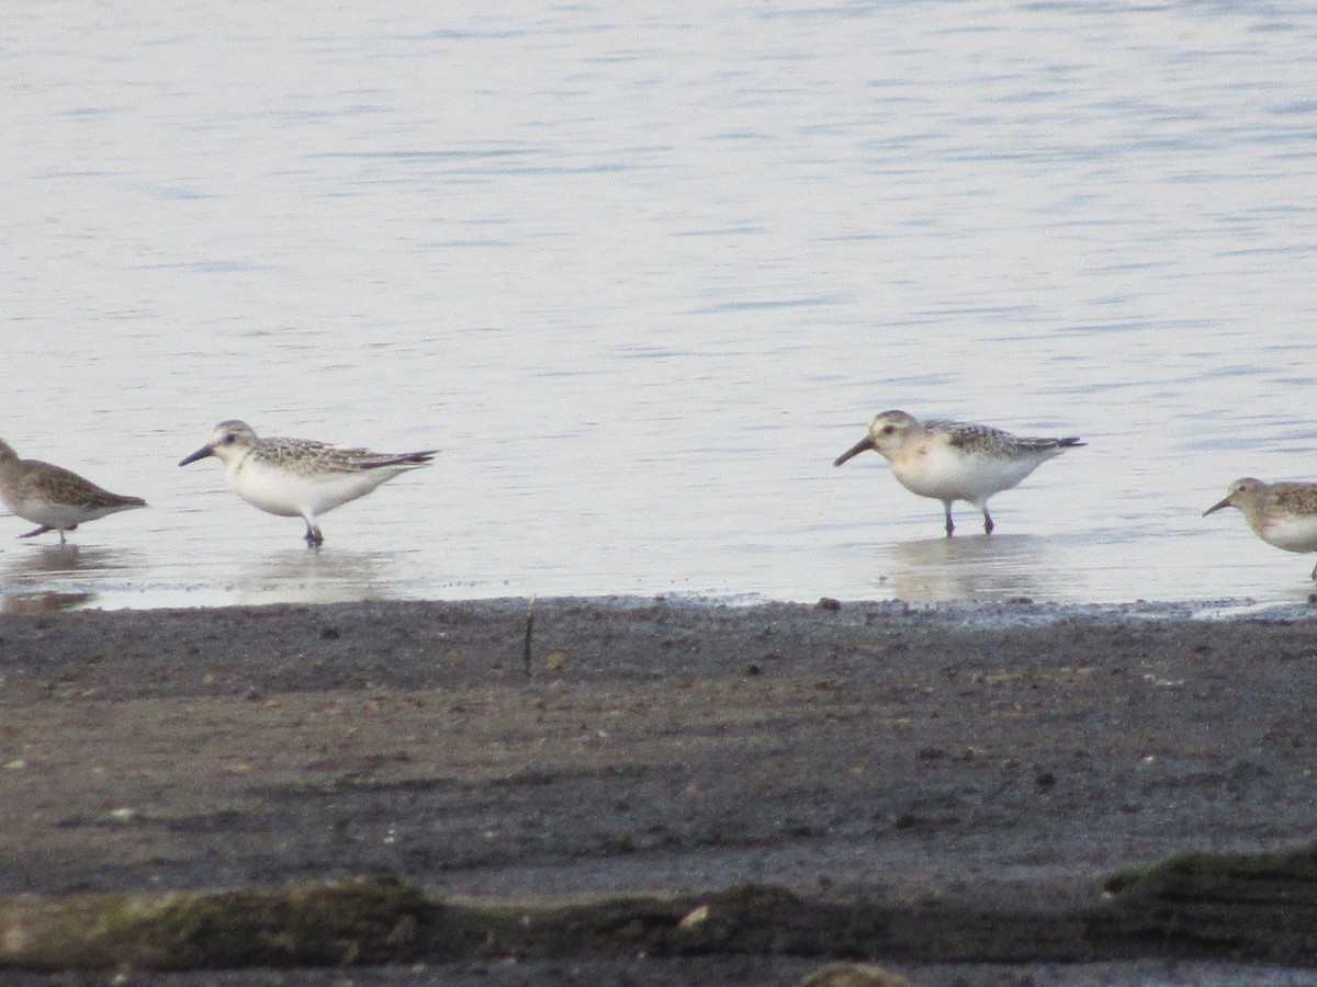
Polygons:
[[320,515],[428,465],[437,451],[371,453],[304,438],[257,438],[244,421],[221,421],[211,441],[179,466],[213,455],[224,463],[234,494],[267,513],[300,517],[307,522],[307,545],[319,546],[324,542],[316,524]]

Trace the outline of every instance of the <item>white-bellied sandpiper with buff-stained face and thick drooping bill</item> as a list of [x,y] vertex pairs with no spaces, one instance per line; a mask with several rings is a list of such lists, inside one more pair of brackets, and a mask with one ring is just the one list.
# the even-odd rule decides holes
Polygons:
[[1077,438],[1021,438],[988,425],[963,421],[925,421],[902,411],[888,411],[869,424],[869,434],[842,453],[840,466],[867,449],[880,453],[901,486],[922,497],[967,500],[984,512],[984,532],[992,534],[988,497],[1010,490],[1038,466],[1067,449],[1081,446]]

